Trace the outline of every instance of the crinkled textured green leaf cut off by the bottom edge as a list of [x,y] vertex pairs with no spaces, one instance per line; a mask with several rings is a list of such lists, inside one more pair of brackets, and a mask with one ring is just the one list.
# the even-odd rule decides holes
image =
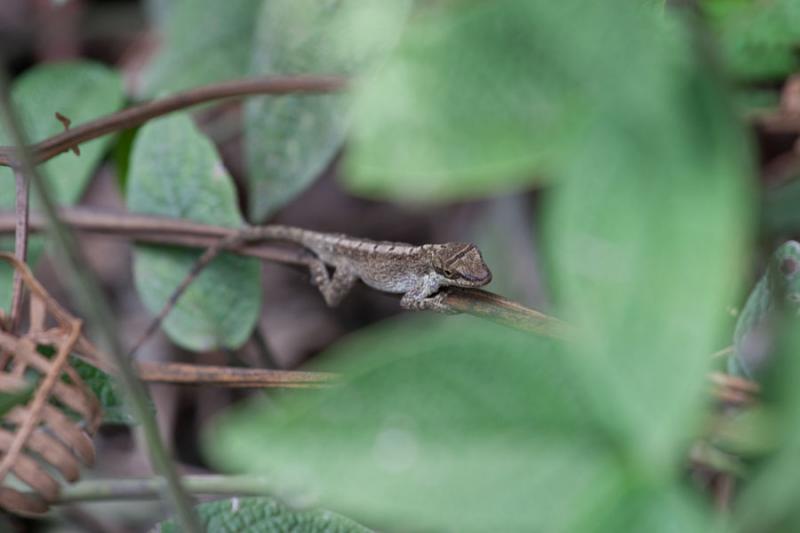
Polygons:
[[[209,533],[369,533],[369,529],[330,511],[295,511],[272,498],[231,498],[195,507]],[[159,524],[161,533],[180,533],[175,520]]]

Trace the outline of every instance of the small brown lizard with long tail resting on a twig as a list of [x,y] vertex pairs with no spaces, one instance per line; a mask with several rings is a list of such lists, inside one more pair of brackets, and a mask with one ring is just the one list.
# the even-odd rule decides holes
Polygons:
[[[294,226],[245,227],[206,249],[129,353],[136,352],[155,331],[191,281],[220,252],[264,240],[297,244],[312,254],[311,282],[330,307],[337,306],[361,280],[374,289],[402,294],[400,306],[404,309],[452,313],[444,304],[445,293],[440,289],[481,287],[492,280],[480,250],[471,243],[412,245]],[[333,276],[329,267],[334,269]]]

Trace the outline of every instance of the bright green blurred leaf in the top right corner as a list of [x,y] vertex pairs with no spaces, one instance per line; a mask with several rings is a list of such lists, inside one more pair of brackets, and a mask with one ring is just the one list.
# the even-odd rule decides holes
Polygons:
[[800,2],[704,0],[731,71],[743,78],[778,78],[800,68]]

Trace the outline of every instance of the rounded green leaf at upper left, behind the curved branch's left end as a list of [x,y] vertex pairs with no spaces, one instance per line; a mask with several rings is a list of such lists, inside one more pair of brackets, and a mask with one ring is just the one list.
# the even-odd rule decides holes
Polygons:
[[[122,81],[116,72],[89,61],[40,65],[16,78],[11,88],[12,100],[32,142],[46,139],[64,130],[56,119],[61,113],[72,126],[111,113],[122,107]],[[41,165],[50,191],[61,204],[75,203],[83,193],[92,171],[103,156],[111,136],[82,144],[81,155],[65,152]],[[11,144],[11,137],[0,125],[0,145]],[[14,209],[14,177],[7,167],[0,167],[0,209]],[[13,239],[0,240],[0,247],[13,250]],[[32,240],[30,263],[41,252],[41,241]],[[11,270],[0,265],[0,306],[11,301]]]

